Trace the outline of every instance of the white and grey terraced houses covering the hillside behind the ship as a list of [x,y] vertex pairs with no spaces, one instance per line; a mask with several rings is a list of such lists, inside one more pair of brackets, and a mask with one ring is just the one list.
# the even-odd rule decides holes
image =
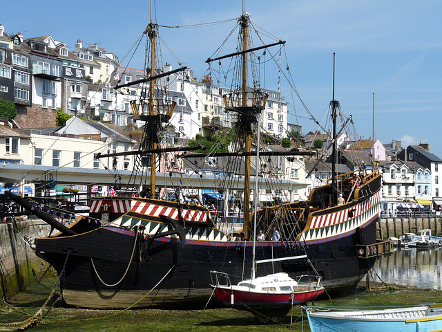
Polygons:
[[[133,170],[133,158],[119,156],[103,161],[95,159],[94,154],[137,149],[135,138],[141,135],[136,129],[143,123],[136,116],[147,111],[143,103],[149,87],[146,71],[148,68],[121,66],[115,53],[97,44],[86,45],[78,39],[70,48],[68,43],[50,35],[9,35],[0,26],[0,98],[14,102],[18,112],[15,123],[9,124],[15,129],[5,126],[1,132],[1,161]],[[223,100],[229,91],[213,82],[211,75],[198,80],[191,68],[177,71],[168,63],[155,68],[156,74],[169,72],[173,73],[158,81],[166,83],[167,88],[154,87],[156,95],[162,94],[163,106],[176,104],[162,146],[185,146],[197,136],[209,138],[218,129],[232,127],[236,114],[224,108]],[[126,86],[115,89],[121,84]],[[301,137],[299,142],[292,142],[292,147],[302,144],[314,148],[315,141],[323,142],[320,158],[271,156],[261,160],[260,172],[267,173],[274,181],[303,185],[290,193],[292,201],[305,199],[314,186],[326,183],[331,176],[332,133],[310,131],[302,136],[302,127],[289,123],[289,103],[285,97],[278,91],[264,90],[269,98],[261,116],[262,135],[276,143],[266,146],[267,151],[283,151],[280,140],[295,131]],[[74,117],[57,127],[57,109]],[[119,127],[123,133],[117,130]],[[379,163],[383,172],[383,209],[403,201],[419,201],[429,208],[442,204],[442,174],[439,174],[442,160],[430,152],[428,145],[422,143],[403,149],[400,141],[383,145],[378,139],[351,140],[345,133],[340,133],[336,142],[338,174],[355,169],[372,172],[372,160]],[[180,161],[177,156],[162,155],[158,160],[159,172],[182,175],[195,172],[192,164]],[[215,176],[213,165],[203,166],[200,174]],[[257,168],[253,158],[252,168]],[[237,175],[243,174],[238,171]],[[259,194],[262,203],[272,199],[267,192]]]

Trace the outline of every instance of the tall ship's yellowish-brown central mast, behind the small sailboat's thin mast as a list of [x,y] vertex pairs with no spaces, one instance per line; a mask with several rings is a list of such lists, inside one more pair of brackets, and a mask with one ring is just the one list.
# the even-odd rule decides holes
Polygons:
[[[247,28],[249,26],[247,17],[244,12],[244,1],[242,3],[242,104],[241,106],[247,107]],[[245,151],[251,151],[251,133],[245,131],[244,133]],[[250,155],[245,156],[244,165],[244,225],[250,221]],[[247,228],[247,227],[246,227]]]

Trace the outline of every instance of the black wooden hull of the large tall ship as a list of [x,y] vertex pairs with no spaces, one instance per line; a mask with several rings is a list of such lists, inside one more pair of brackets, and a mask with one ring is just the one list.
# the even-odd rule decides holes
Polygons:
[[[329,293],[353,288],[374,264],[374,258],[358,257],[356,245],[376,242],[377,206],[377,203],[372,207],[367,205],[367,212],[374,210],[369,213],[373,216],[365,221],[360,218],[361,225],[335,237],[258,243],[257,259],[307,252],[311,264],[306,260],[263,264],[258,267],[257,275],[285,272],[296,277],[316,270]],[[127,214],[120,218],[121,223],[124,218],[128,218]],[[140,219],[133,214],[128,220],[135,223]],[[81,229],[80,223],[86,224],[86,220],[75,225],[77,230]],[[162,226],[166,230],[167,225]],[[186,225],[183,229],[186,232],[183,241],[177,236],[149,239],[136,229],[111,224],[74,236],[37,239],[36,251],[59,274],[64,274],[61,288],[64,302],[70,306],[201,308],[211,295],[209,271],[228,273],[232,282],[247,277],[253,243],[216,241],[217,237],[223,240],[225,234],[218,231],[218,235],[210,235],[217,232],[215,228]]]

